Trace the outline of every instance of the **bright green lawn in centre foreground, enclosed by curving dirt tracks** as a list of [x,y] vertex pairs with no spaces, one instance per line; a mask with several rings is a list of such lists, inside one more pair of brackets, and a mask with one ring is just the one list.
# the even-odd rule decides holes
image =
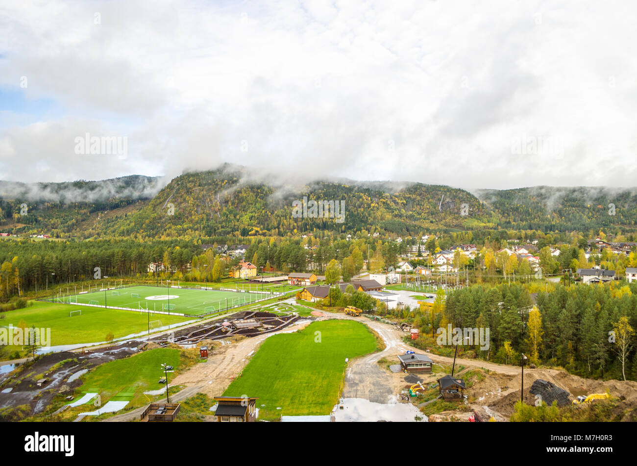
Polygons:
[[329,414],[338,402],[345,358],[375,350],[376,339],[362,323],[311,323],[299,332],[266,339],[224,395],[259,397],[259,419],[264,420]]

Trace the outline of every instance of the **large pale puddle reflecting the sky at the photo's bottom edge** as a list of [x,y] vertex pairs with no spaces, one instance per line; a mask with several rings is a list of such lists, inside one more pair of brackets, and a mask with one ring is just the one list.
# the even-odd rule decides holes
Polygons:
[[[343,409],[340,407],[343,406]],[[415,416],[429,419],[410,403],[375,403],[362,398],[345,398],[332,412],[336,422],[415,422]]]

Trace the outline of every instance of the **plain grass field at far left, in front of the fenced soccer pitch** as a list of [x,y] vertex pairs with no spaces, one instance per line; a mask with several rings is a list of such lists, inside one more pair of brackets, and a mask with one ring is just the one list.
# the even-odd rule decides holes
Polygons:
[[[82,310],[81,315],[69,316],[70,311],[78,310]],[[40,301],[24,309],[8,311],[4,313],[4,316],[4,320],[0,321],[3,327],[9,324],[18,327],[18,323],[24,320],[27,327],[35,325],[38,328],[50,328],[51,346],[101,342],[109,332],[112,332],[116,339],[125,337],[147,330],[149,320],[145,312]],[[162,325],[171,325],[192,320],[192,318],[150,313],[150,320],[161,320]],[[18,348],[18,350],[21,349]]]

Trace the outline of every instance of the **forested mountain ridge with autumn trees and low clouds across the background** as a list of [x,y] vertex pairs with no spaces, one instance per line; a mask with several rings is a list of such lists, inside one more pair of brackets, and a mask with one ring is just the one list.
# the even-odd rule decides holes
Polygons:
[[[0,181],[0,231],[54,237],[286,236],[306,232],[416,235],[444,230],[637,230],[634,188],[533,187],[475,190],[391,181],[264,181],[225,164],[159,178],[129,176],[73,183]],[[161,188],[161,189],[160,189]],[[343,202],[343,222],[294,218],[304,197]],[[28,215],[21,215],[27,204]]]

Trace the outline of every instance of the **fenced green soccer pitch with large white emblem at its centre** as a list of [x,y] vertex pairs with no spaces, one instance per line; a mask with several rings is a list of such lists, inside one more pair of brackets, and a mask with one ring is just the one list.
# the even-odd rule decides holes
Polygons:
[[256,300],[270,299],[269,294],[241,293],[222,290],[201,290],[197,288],[167,288],[166,286],[127,286],[90,293],[65,295],[55,298],[56,302],[77,302],[128,309],[148,309],[166,313],[199,316],[213,314],[236,306],[250,304]]

